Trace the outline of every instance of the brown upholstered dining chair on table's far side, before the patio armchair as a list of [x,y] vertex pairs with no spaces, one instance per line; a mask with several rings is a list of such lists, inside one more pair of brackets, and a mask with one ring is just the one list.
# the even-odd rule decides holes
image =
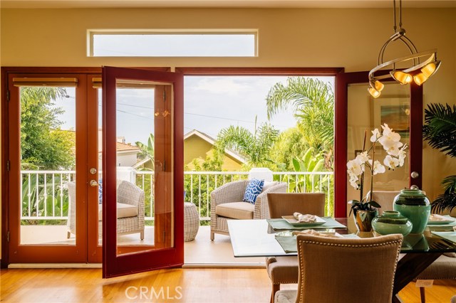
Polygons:
[[[269,216],[281,218],[294,212],[324,216],[324,193],[268,193]],[[298,257],[266,257],[266,270],[272,282],[271,302],[281,284],[298,282]]]

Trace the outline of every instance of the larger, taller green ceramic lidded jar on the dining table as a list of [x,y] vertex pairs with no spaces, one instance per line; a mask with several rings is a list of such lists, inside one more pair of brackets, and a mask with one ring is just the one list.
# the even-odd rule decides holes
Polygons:
[[430,202],[419,189],[403,189],[395,196],[393,208],[413,224],[410,233],[423,233],[430,216]]

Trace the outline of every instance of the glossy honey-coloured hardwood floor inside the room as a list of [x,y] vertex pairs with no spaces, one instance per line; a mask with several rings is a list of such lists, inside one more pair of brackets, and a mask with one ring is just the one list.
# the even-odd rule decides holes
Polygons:
[[[264,269],[186,268],[157,270],[109,280],[100,269],[1,270],[1,302],[268,302],[271,292]],[[286,288],[293,288],[294,285]],[[427,303],[449,303],[456,280],[435,281]],[[410,283],[400,296],[420,302]]]

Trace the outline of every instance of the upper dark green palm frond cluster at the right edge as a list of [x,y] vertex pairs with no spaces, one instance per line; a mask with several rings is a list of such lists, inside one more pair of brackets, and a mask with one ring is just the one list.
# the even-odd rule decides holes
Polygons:
[[456,156],[456,105],[428,105],[425,109],[423,138],[431,147],[449,156]]

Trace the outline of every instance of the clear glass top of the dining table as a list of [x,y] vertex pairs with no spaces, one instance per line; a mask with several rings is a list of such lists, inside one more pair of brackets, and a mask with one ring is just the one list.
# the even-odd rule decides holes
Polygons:
[[[353,220],[347,218],[336,218],[336,220],[346,225],[347,228],[312,229],[319,232],[324,231],[349,235],[350,237],[371,238],[377,236],[373,232],[358,232]],[[234,257],[297,255],[297,252],[285,252],[275,238],[277,233],[281,236],[288,235],[289,237],[293,237],[291,232],[273,230],[266,220],[228,220],[228,229]],[[440,230],[443,231],[442,229]],[[452,232],[452,228],[447,231],[449,233],[450,231]],[[294,238],[296,239],[296,236]],[[456,252],[456,243],[431,233],[428,227],[423,234],[406,235],[400,252]]]

